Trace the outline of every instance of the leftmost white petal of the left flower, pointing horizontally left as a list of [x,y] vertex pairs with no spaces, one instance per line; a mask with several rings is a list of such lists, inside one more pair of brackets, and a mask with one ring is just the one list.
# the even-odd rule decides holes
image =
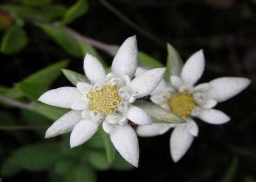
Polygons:
[[60,87],[49,90],[41,95],[38,101],[63,108],[71,108],[72,104],[83,99],[82,93],[75,87]]

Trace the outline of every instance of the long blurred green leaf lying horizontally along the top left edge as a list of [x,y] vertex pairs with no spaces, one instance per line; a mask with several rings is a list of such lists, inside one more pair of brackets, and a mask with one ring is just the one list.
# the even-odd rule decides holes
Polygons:
[[40,21],[50,21],[61,17],[67,8],[61,4],[54,4],[43,8],[7,4],[0,5],[0,10],[10,12],[25,19],[33,18]]

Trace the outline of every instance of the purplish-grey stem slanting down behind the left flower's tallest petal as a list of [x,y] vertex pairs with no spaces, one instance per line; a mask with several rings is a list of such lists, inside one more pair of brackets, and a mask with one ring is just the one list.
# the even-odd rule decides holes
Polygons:
[[111,48],[111,45],[102,43],[98,40],[94,40],[89,37],[85,37],[67,26],[65,27],[65,29],[77,40],[83,41],[85,43],[89,43],[89,44],[93,45],[94,47],[96,47],[102,51],[105,51],[106,53],[108,53],[112,56],[114,56],[116,54],[116,51]]

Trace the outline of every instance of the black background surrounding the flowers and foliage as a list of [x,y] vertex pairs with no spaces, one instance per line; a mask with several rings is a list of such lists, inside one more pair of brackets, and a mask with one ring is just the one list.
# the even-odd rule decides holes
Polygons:
[[[67,6],[75,1],[54,1]],[[238,157],[234,181],[256,181],[256,1],[234,0],[111,0],[120,12],[141,28],[158,37],[158,43],[139,33],[107,10],[101,3],[89,0],[89,12],[69,26],[87,37],[108,44],[121,44],[127,37],[137,35],[138,48],[165,64],[170,42],[186,60],[199,49],[204,50],[206,69],[200,83],[222,76],[241,76],[252,79],[252,84],[238,96],[220,103],[217,109],[231,117],[224,125],[210,125],[199,120],[199,135],[185,156],[174,163],[170,156],[170,131],[154,138],[139,138],[139,168],[130,171],[100,171],[98,181],[218,181],[228,169],[233,157]],[[0,55],[1,85],[12,86],[22,78],[69,58],[69,69],[83,73],[82,59],[65,53],[41,30],[26,25],[29,43],[15,55]],[[111,65],[112,57],[99,50]],[[52,86],[71,85],[61,76]],[[12,109],[16,114],[18,110]],[[31,134],[31,135],[30,135]],[[0,133],[6,153],[17,147]],[[29,141],[37,141],[30,131]],[[30,137],[29,137],[30,136]],[[11,142],[11,144],[10,144]],[[47,180],[46,172],[19,173],[5,181],[24,179]]]

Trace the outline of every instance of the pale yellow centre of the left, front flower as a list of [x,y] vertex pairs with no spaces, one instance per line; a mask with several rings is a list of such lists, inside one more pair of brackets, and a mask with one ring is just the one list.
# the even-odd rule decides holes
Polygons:
[[101,90],[89,91],[90,110],[97,110],[99,113],[108,115],[114,112],[121,101],[117,94],[117,85],[104,85]]

